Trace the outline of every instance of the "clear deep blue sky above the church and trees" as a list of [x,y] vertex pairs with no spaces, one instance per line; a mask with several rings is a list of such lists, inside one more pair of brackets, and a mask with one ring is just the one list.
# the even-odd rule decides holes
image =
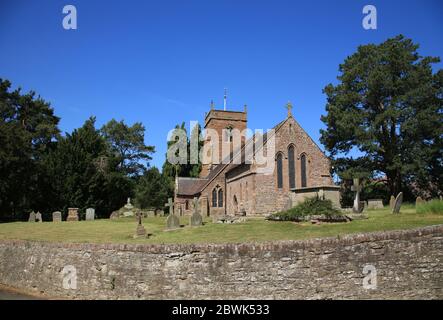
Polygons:
[[[62,27],[66,4],[77,30]],[[377,30],[362,28],[366,4]],[[50,101],[64,132],[91,115],[141,121],[161,167],[167,132],[202,122],[211,99],[222,107],[225,87],[228,108],[248,105],[249,128],[271,128],[291,100],[318,142],[338,65],[399,33],[443,58],[443,1],[0,0],[0,77]]]

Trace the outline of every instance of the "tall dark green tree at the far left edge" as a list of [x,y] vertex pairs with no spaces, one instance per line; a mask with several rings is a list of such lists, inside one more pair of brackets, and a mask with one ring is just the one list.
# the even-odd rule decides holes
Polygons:
[[0,79],[0,219],[20,219],[31,208],[44,208],[50,184],[41,159],[59,137],[58,122],[35,92],[11,91],[11,83]]

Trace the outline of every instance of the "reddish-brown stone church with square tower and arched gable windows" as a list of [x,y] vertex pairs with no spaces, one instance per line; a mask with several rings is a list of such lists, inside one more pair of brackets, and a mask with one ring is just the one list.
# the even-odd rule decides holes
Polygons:
[[[219,152],[216,159],[204,162],[199,178],[176,177],[175,213],[192,213],[194,198],[198,198],[202,214],[211,216],[267,215],[312,196],[331,199],[339,206],[339,187],[333,184],[329,159],[294,119],[290,103],[287,109],[287,117],[271,133],[263,134],[263,153],[274,161],[271,172],[263,173],[255,161],[245,161],[245,150],[254,136],[242,137],[238,148],[230,146],[228,161],[221,158],[222,143],[233,143],[226,137],[227,129],[247,128],[246,106],[244,111],[227,111],[211,105],[204,128],[217,132]],[[217,144],[208,145],[208,140],[203,149],[213,151],[211,147],[217,148]],[[273,154],[268,155],[271,140]],[[254,147],[254,155],[257,149]]]

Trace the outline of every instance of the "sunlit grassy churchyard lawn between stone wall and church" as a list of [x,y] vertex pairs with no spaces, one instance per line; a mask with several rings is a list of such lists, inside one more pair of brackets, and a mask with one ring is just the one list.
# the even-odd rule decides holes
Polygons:
[[238,224],[214,224],[209,218],[202,227],[188,227],[188,217],[181,218],[186,227],[165,232],[165,217],[143,220],[149,239],[133,239],[135,218],[62,223],[13,222],[0,224],[0,239],[25,239],[56,242],[94,243],[222,243],[308,239],[350,233],[411,229],[443,224],[443,212],[418,214],[413,206],[404,206],[399,215],[389,209],[368,211],[369,219],[348,223],[311,224],[265,221],[250,218]]

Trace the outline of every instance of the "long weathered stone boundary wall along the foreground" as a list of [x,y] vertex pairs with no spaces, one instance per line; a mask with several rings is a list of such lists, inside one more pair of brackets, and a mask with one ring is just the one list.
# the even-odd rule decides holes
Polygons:
[[[368,264],[376,289],[362,285]],[[76,290],[63,289],[66,265]],[[442,299],[443,225],[244,244],[1,240],[0,284],[75,299]]]

